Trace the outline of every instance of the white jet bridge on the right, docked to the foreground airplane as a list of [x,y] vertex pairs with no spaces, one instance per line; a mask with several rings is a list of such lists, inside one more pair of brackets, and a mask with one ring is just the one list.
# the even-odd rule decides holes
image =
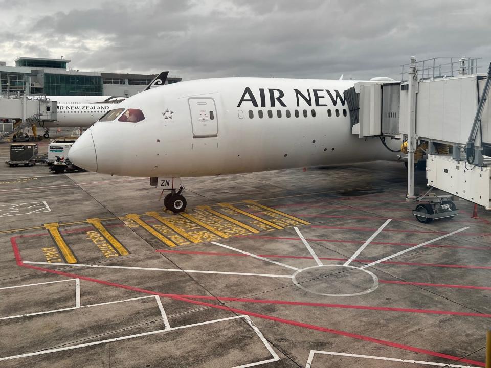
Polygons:
[[451,58],[442,63],[447,71],[441,72],[440,59],[424,60],[421,67],[412,57],[406,73],[403,66],[406,81],[364,81],[345,91],[353,134],[407,142],[401,146],[408,153],[407,200],[420,202],[413,214],[421,222],[458,212],[450,196],[415,196],[418,150],[427,157],[430,189],[491,210],[491,107],[486,103],[491,65],[487,75],[479,74],[478,58]]

